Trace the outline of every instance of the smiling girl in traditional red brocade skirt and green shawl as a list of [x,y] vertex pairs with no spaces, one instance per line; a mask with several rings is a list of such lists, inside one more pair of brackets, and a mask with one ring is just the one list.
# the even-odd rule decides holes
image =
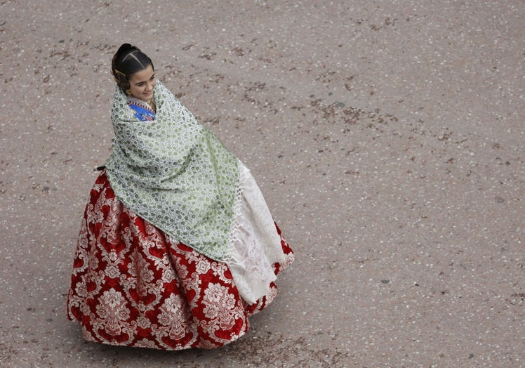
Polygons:
[[250,172],[123,44],[112,154],[91,190],[67,316],[88,341],[216,348],[248,331],[293,261]]

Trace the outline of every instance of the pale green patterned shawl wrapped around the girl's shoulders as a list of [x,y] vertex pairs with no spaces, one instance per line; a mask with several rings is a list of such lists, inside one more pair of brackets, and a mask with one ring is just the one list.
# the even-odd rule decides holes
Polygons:
[[239,161],[159,81],[154,100],[154,121],[140,121],[115,89],[109,183],[138,216],[201,254],[227,261]]

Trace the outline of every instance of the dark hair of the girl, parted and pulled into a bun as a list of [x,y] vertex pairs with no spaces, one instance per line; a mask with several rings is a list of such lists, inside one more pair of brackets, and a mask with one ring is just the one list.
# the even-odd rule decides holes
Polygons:
[[113,56],[111,71],[122,91],[128,93],[130,77],[136,72],[145,70],[149,65],[153,68],[152,60],[140,51],[140,48],[131,44],[122,44]]

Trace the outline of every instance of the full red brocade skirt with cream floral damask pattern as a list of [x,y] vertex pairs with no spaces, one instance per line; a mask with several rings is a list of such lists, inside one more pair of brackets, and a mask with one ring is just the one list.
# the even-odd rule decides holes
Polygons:
[[[276,230],[281,234],[276,225]],[[281,236],[286,259],[293,251]],[[80,322],[84,339],[119,346],[180,350],[217,348],[246,334],[248,317],[277,295],[246,303],[227,265],[135,215],[114,195],[102,171],[84,212],[67,317]]]

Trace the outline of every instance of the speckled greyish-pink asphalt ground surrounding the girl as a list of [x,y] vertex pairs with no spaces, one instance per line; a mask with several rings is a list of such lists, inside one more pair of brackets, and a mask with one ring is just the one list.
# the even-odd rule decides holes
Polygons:
[[[0,35],[1,367],[525,367],[523,0],[6,0]],[[296,252],[224,348],[65,318],[124,42]]]

